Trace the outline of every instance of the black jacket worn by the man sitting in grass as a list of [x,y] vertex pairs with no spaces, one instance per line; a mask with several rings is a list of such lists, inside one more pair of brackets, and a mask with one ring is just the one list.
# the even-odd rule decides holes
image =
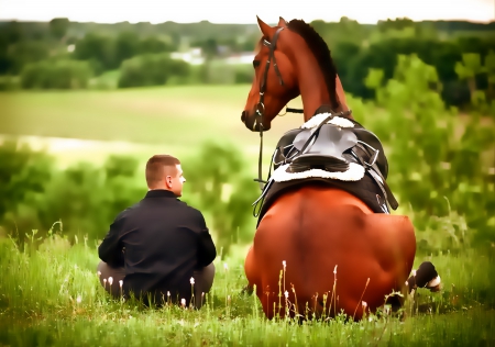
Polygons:
[[123,291],[129,298],[162,295],[176,302],[191,296],[190,278],[217,256],[205,219],[167,190],[151,190],[121,212],[98,248],[111,267],[125,267]]

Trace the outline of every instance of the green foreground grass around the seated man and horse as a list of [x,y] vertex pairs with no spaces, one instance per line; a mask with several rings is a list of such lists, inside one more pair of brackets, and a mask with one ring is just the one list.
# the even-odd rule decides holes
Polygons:
[[[96,245],[52,237],[35,250],[0,240],[0,345],[6,346],[491,346],[495,343],[493,259],[474,251],[418,257],[436,264],[444,288],[419,290],[406,320],[370,315],[360,323],[267,321],[242,294],[245,250],[216,260],[208,304],[143,309],[111,300],[99,286]],[[36,243],[36,242],[34,242]],[[78,302],[77,298],[80,298]],[[230,298],[230,299],[229,299]]]

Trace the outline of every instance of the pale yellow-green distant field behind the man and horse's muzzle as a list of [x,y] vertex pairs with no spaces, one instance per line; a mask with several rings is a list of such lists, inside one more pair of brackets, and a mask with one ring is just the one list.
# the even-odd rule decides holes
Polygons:
[[[22,136],[68,161],[122,152],[186,154],[205,139],[231,143],[254,158],[258,135],[240,119],[249,90],[240,85],[3,92],[0,136]],[[300,100],[292,105],[300,107]],[[265,158],[284,132],[301,123],[294,114],[275,121]]]

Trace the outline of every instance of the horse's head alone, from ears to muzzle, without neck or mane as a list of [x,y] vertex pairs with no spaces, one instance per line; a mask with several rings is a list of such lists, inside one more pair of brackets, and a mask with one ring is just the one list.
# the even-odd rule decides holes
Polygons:
[[261,19],[257,19],[257,23],[263,37],[253,60],[254,81],[241,116],[245,126],[256,132],[261,126],[263,131],[270,130],[272,120],[299,94],[296,71],[287,56],[287,40],[280,36],[287,23],[283,18],[275,27]]

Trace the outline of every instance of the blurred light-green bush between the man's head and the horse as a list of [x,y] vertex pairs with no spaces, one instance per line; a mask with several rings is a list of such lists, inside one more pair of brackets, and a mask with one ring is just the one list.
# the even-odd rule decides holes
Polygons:
[[[248,242],[254,232],[251,204],[257,198],[257,186],[245,176],[248,163],[240,149],[206,143],[198,154],[184,160],[187,172],[185,194],[211,219],[209,226],[217,247],[229,251],[232,243]],[[251,223],[250,223],[251,222]]]

